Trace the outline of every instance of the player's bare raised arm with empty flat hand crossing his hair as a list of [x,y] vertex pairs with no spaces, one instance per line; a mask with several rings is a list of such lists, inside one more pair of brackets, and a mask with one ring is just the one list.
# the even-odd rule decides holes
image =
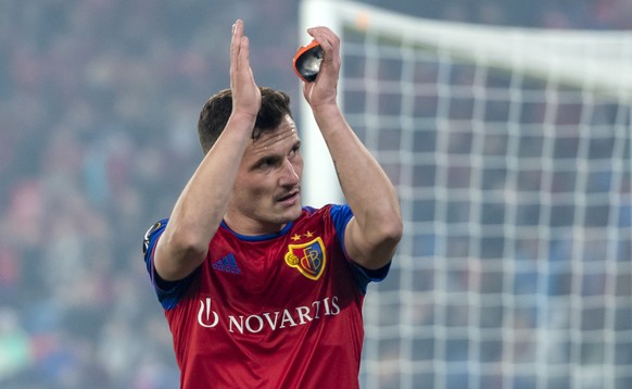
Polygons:
[[165,280],[181,279],[204,261],[261,106],[261,92],[250,67],[249,39],[243,35],[241,21],[232,25],[230,88],[230,118],[180,193],[157,242],[154,265]]

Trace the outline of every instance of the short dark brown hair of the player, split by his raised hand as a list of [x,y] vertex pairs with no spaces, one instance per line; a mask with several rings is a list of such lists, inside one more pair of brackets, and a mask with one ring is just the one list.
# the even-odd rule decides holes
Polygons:
[[[286,115],[292,117],[290,97],[271,88],[260,87],[261,109],[256,115],[252,139],[256,140],[262,133],[275,129]],[[224,89],[206,101],[198,121],[198,136],[204,154],[211,150],[226,127],[232,112],[232,91]]]

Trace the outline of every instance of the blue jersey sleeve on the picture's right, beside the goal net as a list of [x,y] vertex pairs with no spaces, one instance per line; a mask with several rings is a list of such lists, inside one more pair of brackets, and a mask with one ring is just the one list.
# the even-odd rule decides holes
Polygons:
[[377,269],[369,269],[364,266],[358,265],[352,259],[349,258],[346,254],[346,249],[344,248],[344,233],[346,230],[346,225],[349,221],[353,217],[353,211],[351,211],[351,206],[347,204],[343,205],[331,205],[330,209],[331,221],[333,222],[333,228],[336,229],[336,235],[340,237],[340,246],[342,247],[342,251],[346,256],[349,263],[353,269],[353,276],[356,280],[356,284],[362,289],[364,293],[366,293],[366,288],[369,283],[379,283],[387,278],[389,274],[389,269],[391,268],[391,262],[387,265],[377,268]]

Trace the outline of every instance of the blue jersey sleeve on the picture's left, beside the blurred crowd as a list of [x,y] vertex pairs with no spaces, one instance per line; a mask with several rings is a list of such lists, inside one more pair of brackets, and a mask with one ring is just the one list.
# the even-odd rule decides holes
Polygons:
[[144,265],[147,267],[147,272],[149,273],[151,283],[153,285],[154,291],[157,296],[157,299],[165,310],[170,310],[176,306],[178,301],[185,292],[187,291],[191,278],[195,274],[193,272],[188,277],[177,280],[177,281],[166,281],[160,277],[156,273],[154,265],[153,265],[153,255],[155,251],[155,246],[159,241],[159,238],[164,233],[165,227],[167,226],[167,218],[163,218],[162,221],[155,223],[151,226],[147,233],[144,234],[143,241],[142,241],[142,254],[144,258]]

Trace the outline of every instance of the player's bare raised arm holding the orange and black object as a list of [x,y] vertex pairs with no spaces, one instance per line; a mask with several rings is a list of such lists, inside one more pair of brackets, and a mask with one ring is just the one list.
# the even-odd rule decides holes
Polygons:
[[307,33],[323,47],[324,60],[316,81],[306,83],[303,91],[354,213],[344,236],[346,253],[366,268],[379,268],[392,259],[403,234],[397,195],[338,105],[340,39],[327,27]]

